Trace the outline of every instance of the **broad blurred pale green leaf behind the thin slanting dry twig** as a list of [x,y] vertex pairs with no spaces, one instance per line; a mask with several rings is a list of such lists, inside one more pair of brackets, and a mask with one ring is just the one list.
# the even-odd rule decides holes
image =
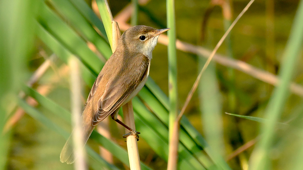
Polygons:
[[[200,58],[200,68],[206,59]],[[202,97],[202,125],[205,138],[215,155],[224,155],[224,137],[221,94],[216,77],[215,64],[211,62],[200,80],[200,96]]]

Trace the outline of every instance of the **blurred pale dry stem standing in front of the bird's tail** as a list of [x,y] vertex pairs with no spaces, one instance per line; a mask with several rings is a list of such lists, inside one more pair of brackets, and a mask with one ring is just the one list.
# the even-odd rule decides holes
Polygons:
[[71,88],[71,112],[72,125],[74,131],[72,139],[74,143],[75,170],[86,170],[85,150],[84,150],[84,132],[82,128],[82,103],[81,103],[81,80],[80,69],[76,57],[70,57],[68,61],[70,67],[70,88]]

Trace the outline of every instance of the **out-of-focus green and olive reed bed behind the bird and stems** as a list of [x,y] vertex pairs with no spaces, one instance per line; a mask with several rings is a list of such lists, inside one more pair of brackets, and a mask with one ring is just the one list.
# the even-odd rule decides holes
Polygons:
[[[175,1],[176,38],[209,54],[248,2]],[[127,9],[133,7],[132,2],[110,0],[108,4],[114,19],[120,16],[115,20],[125,31],[131,25],[132,10]],[[266,117],[275,75],[287,60],[285,48],[290,43],[298,6],[298,0],[256,0],[232,29],[218,49],[220,56],[202,75],[185,111],[179,169],[188,165],[192,166],[188,169],[248,169],[256,143],[262,137],[262,122],[270,115]],[[136,25],[167,27],[165,1],[139,1],[137,10]],[[71,132],[68,113],[72,82],[67,60],[77,57],[81,63],[84,106],[96,75],[111,55],[99,19],[96,2],[90,0],[0,0],[0,169],[74,168],[59,160],[67,132]],[[293,43],[300,44],[299,41]],[[193,51],[189,47],[177,49],[179,110],[208,57]],[[293,69],[289,79],[295,84],[285,93],[277,118],[279,124],[274,126],[274,135],[266,145],[265,169],[303,168],[302,163],[296,162],[303,157],[301,49],[295,57],[289,67]],[[168,59],[167,45],[162,41],[153,51],[150,77],[155,84],[150,83],[134,99],[136,127],[142,133],[138,142],[140,159],[150,169],[166,169]],[[154,89],[166,98],[161,99]],[[143,112],[152,118],[141,115]],[[225,112],[253,117],[240,118]],[[124,129],[110,118],[103,126],[110,129],[99,131],[105,138],[93,134],[94,140],[88,141],[92,148],[88,153],[89,168],[129,169],[127,159],[119,157],[126,150]],[[196,140],[199,135],[191,133],[189,126],[208,143],[213,154],[220,155],[219,159],[205,151],[206,145]],[[105,153],[101,157],[100,145],[109,150],[101,149]],[[119,149],[124,149],[123,154]],[[92,153],[97,155],[93,157]],[[218,165],[216,160],[226,166]]]

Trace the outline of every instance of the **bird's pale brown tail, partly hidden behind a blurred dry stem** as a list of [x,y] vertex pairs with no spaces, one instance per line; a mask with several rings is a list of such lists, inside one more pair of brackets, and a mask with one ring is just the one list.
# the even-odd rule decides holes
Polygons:
[[[94,130],[94,126],[91,126],[91,125],[84,126],[84,143],[87,142],[87,140],[88,140],[89,136],[91,136],[93,130]],[[72,133],[74,133],[74,131]],[[63,146],[63,149],[61,151],[60,161],[62,163],[66,162],[67,164],[72,164],[75,162],[72,135],[73,134],[71,134],[71,136],[69,136],[69,138],[65,142],[65,145]]]

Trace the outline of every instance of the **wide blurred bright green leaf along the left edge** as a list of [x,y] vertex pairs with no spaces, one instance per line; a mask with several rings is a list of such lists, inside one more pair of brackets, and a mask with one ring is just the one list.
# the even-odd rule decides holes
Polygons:
[[3,132],[26,79],[32,50],[35,0],[0,1],[0,169],[6,169],[11,131]]

